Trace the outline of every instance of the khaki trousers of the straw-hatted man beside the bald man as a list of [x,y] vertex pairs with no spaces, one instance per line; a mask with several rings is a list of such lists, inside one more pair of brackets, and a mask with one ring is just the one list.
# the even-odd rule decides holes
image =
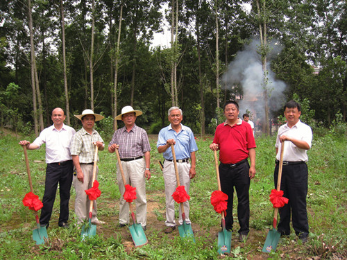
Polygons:
[[[93,164],[81,164],[81,169],[84,174],[83,183],[77,179],[77,176],[74,175],[74,187],[76,190],[76,199],[75,199],[75,214],[77,216],[77,224],[81,224],[84,220],[89,218],[89,208],[90,200],[85,193],[85,190],[92,188],[92,177],[93,177]],[[99,167],[96,166],[96,177],[99,172]],[[95,180],[96,180],[95,177]],[[96,200],[93,201],[93,211],[92,211],[92,223],[94,223],[98,218],[96,218],[97,209],[96,209]]]

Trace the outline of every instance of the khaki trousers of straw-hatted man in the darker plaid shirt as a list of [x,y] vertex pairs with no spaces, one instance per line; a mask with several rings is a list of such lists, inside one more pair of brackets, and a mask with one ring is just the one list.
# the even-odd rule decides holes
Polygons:
[[[123,167],[126,184],[130,184],[132,187],[136,188],[136,221],[137,223],[141,223],[142,227],[144,227],[147,225],[146,178],[144,177],[146,164],[144,158],[128,162],[121,161],[121,166]],[[119,200],[119,223],[125,225],[129,223],[129,203],[126,202],[123,197],[126,189],[121,178],[118,164],[117,180],[119,192],[121,193],[121,198]]]

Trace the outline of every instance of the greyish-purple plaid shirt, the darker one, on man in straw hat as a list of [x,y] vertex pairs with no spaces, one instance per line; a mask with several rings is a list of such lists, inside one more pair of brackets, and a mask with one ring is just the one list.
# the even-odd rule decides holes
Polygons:
[[137,125],[134,125],[129,132],[125,126],[117,130],[108,146],[112,144],[119,144],[119,157],[122,159],[143,156],[151,150],[146,131]]

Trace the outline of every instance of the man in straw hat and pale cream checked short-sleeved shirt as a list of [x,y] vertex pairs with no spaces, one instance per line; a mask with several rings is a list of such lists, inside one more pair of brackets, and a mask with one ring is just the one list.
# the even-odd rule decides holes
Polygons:
[[[92,184],[93,165],[94,165],[94,145],[98,146],[99,150],[105,147],[103,139],[99,132],[94,130],[96,121],[103,119],[100,114],[94,114],[92,110],[83,110],[82,114],[75,115],[81,120],[83,128],[76,132],[70,144],[70,151],[76,175],[74,175],[74,187],[76,190],[75,199],[75,214],[77,216],[77,223],[81,224],[88,218],[90,200],[85,193],[85,190],[90,189]],[[99,161],[99,157],[98,157]],[[96,167],[96,175],[99,168]],[[93,204],[92,224],[103,225],[105,222],[96,217],[96,200]]]

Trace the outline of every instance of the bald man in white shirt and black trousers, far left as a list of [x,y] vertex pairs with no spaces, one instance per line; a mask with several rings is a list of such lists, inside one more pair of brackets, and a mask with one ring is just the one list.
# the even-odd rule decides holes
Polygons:
[[65,117],[64,111],[60,107],[55,108],[51,116],[53,125],[44,128],[33,143],[26,140],[19,141],[19,144],[26,146],[28,150],[38,149],[42,144],[46,144],[46,181],[42,199],[44,206],[40,216],[40,225],[43,227],[49,226],[58,183],[60,191],[59,227],[67,227],[67,220],[69,220],[70,189],[74,171],[69,145],[76,131],[64,124]]

